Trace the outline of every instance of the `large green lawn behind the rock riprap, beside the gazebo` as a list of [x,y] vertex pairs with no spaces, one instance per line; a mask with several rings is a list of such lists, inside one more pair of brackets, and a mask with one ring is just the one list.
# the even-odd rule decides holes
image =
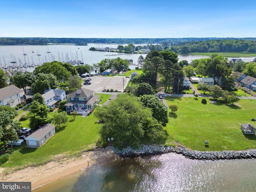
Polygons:
[[[168,142],[178,141],[193,150],[246,150],[256,148],[256,136],[244,135],[240,124],[251,123],[255,116],[256,100],[240,100],[241,106],[202,104],[202,98],[165,97],[168,103],[178,106],[176,115],[169,119],[166,130]],[[246,138],[249,140],[246,140]],[[209,148],[204,141],[209,140]]]

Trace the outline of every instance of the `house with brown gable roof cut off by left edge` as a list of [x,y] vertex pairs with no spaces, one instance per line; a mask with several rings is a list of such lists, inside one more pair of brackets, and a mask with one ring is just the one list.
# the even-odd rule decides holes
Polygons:
[[22,101],[22,91],[15,85],[10,85],[0,89],[0,105],[15,107]]

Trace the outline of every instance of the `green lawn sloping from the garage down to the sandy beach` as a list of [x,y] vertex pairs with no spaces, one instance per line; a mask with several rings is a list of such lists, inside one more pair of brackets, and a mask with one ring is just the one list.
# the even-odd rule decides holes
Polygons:
[[[96,109],[97,110],[97,109]],[[25,166],[37,166],[56,159],[58,154],[72,156],[83,150],[94,148],[98,140],[98,123],[93,113],[87,117],[69,116],[69,121],[60,128],[56,126],[56,133],[40,148],[26,148],[14,146],[14,152],[10,159],[1,167],[20,169]],[[22,122],[22,126],[28,127],[29,120]]]

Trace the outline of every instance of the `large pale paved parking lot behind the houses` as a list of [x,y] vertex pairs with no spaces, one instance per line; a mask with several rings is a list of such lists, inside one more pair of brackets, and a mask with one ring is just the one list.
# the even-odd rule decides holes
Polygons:
[[86,80],[88,78],[92,78],[90,80],[91,84],[84,85],[83,88],[93,90],[95,92],[102,92],[105,89],[114,89],[123,92],[123,88],[125,89],[130,78],[126,78],[125,76],[100,76],[94,75],[93,77],[82,78]]

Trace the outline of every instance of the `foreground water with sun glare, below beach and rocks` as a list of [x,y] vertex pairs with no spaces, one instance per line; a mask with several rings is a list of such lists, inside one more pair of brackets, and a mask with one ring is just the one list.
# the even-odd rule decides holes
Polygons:
[[115,158],[34,192],[255,192],[256,160],[190,160],[170,153]]

